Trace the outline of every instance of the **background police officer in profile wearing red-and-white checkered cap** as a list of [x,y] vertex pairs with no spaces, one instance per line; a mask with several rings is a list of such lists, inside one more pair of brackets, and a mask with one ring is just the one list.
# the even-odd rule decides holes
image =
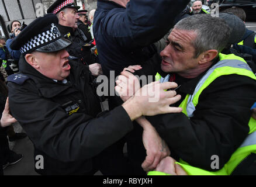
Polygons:
[[89,70],[92,75],[102,74],[101,65],[95,63],[95,57],[91,53],[92,44],[88,43],[89,40],[84,32],[78,28],[77,10],[80,6],[74,4],[74,0],[57,0],[53,5],[47,9],[47,13],[54,13],[58,18],[58,29],[62,36],[66,36],[72,42],[67,47],[70,56],[77,57],[79,62],[89,65]]

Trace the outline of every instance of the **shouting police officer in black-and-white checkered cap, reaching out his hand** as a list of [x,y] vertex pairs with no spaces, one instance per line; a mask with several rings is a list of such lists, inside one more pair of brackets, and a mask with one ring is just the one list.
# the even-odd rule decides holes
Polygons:
[[10,109],[34,144],[35,161],[43,159],[43,165],[35,165],[39,174],[92,175],[106,164],[101,162],[101,151],[131,131],[133,120],[141,115],[181,112],[169,107],[180,96],[164,91],[174,84],[154,82],[151,86],[160,88],[161,98],[155,94],[157,102],[150,102],[154,92],[148,89],[146,95],[138,94],[111,112],[100,113],[88,68],[68,61],[65,48],[71,42],[61,36],[57,24],[56,15],[48,14],[13,40],[11,48],[20,50],[22,57],[20,74],[8,78]]

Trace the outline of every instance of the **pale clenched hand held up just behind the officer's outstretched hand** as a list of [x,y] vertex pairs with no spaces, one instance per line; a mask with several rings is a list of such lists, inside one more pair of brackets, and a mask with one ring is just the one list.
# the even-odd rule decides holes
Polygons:
[[120,98],[124,102],[126,102],[131,96],[134,95],[136,91],[140,89],[139,79],[137,79],[137,77],[135,77],[129,71],[124,70],[121,72],[121,75],[119,75],[118,79],[116,80],[115,89],[116,92],[119,94]]

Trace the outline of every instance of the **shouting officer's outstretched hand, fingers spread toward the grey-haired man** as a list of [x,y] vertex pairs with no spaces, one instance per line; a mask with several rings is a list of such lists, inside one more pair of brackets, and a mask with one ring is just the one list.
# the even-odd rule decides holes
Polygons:
[[123,103],[123,108],[130,116],[131,120],[140,116],[154,116],[160,113],[179,113],[182,108],[170,107],[173,103],[181,99],[181,95],[176,95],[175,91],[164,91],[169,88],[176,88],[175,82],[159,81],[144,85],[134,96]]

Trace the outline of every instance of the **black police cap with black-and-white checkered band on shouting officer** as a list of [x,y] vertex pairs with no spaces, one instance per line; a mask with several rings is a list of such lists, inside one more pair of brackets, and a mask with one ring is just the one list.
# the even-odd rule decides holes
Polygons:
[[65,49],[71,41],[61,37],[57,28],[58,18],[50,13],[35,19],[11,43],[11,49],[20,50],[25,56],[32,51],[54,52]]

